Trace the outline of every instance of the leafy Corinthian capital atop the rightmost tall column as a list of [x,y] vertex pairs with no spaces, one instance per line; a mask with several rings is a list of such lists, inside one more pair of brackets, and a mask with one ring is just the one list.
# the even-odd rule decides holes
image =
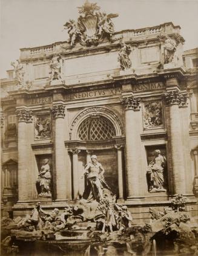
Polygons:
[[166,105],[187,105],[188,94],[186,92],[170,91],[163,94],[163,97],[165,98]]

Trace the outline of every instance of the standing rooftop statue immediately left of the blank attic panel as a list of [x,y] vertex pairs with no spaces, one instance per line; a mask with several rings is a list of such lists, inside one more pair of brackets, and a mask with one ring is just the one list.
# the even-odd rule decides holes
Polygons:
[[61,63],[60,60],[62,60],[62,57],[60,54],[54,54],[53,57],[51,58],[50,62],[50,68],[51,68],[51,81],[52,80],[61,80]]

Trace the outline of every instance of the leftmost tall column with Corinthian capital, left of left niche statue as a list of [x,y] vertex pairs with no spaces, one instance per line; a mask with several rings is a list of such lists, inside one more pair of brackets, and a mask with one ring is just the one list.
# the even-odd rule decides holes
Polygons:
[[32,112],[27,109],[17,109],[18,117],[18,187],[19,202],[28,199],[28,162],[29,147],[27,137],[27,123],[32,122]]

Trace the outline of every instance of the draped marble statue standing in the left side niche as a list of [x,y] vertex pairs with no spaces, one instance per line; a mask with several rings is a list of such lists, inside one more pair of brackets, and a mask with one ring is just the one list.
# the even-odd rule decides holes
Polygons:
[[36,180],[38,196],[47,198],[51,197],[51,171],[48,162],[49,159],[47,158],[43,160],[41,171],[39,171],[38,179]]

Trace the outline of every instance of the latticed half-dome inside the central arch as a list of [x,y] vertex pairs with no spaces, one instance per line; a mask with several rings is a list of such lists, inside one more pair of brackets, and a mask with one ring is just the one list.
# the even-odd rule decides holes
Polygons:
[[108,140],[116,136],[113,124],[103,116],[90,116],[85,119],[78,130],[80,140]]

